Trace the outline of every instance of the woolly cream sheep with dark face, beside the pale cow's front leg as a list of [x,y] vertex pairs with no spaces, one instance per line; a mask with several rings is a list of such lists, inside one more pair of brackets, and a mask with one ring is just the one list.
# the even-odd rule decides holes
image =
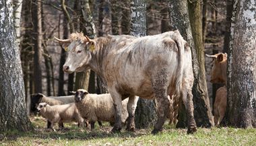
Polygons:
[[[138,99],[138,97],[136,98]],[[128,98],[122,102],[123,109],[121,121],[123,123],[125,123],[125,120],[127,120],[129,116],[127,112],[127,103]],[[75,106],[81,116],[84,119],[89,120],[91,129],[94,129],[94,122],[97,120],[110,123],[115,122],[114,102],[110,94],[89,94],[85,89],[78,89],[77,92],[75,92]],[[137,104],[135,106],[137,106]]]

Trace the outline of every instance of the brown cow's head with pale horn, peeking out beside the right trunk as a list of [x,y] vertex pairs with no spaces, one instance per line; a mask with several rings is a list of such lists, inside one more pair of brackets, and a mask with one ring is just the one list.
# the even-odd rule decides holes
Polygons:
[[212,83],[226,83],[226,53],[218,53],[214,55],[206,54],[206,57],[214,59],[214,66],[212,67],[211,82]]

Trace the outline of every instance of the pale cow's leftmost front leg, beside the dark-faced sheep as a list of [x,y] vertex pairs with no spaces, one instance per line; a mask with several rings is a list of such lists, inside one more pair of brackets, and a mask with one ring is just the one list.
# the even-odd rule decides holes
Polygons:
[[120,132],[122,129],[122,122],[121,122],[121,114],[122,114],[122,98],[119,93],[117,93],[115,90],[110,89],[110,95],[113,99],[113,104],[115,108],[115,124],[112,129],[113,133]]

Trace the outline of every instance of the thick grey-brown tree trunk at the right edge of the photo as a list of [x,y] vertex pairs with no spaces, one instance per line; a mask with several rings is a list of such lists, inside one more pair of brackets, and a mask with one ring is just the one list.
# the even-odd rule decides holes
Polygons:
[[255,1],[234,1],[228,52],[228,120],[231,126],[256,127]]

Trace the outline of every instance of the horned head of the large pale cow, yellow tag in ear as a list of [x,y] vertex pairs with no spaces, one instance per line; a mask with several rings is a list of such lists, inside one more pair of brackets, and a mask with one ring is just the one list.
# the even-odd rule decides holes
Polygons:
[[95,41],[84,36],[83,33],[73,33],[66,40],[55,39],[63,44],[67,51],[67,60],[63,65],[63,71],[67,73],[85,71],[92,59],[91,51],[95,49]]

